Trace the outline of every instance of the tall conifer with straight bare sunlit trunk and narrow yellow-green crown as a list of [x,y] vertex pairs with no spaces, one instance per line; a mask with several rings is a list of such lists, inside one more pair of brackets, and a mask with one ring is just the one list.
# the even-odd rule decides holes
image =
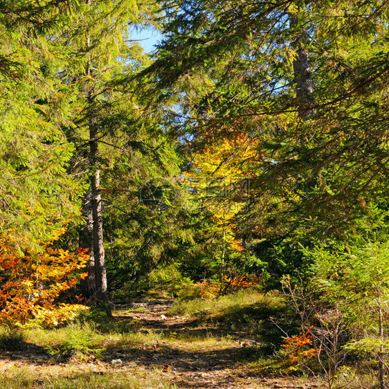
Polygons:
[[[110,82],[126,71],[130,60],[127,44],[129,24],[138,22],[138,6],[134,1],[84,0],[73,26],[64,30],[60,37],[62,45],[69,44],[69,58],[62,72],[64,83],[71,85],[75,96],[73,117],[77,129],[69,128],[68,137],[75,142],[88,145],[85,153],[89,194],[84,196],[87,215],[87,235],[84,242],[90,249],[87,294],[95,294],[99,300],[107,301],[107,273],[102,227],[100,143],[116,127],[107,123],[112,101]],[[130,66],[128,66],[129,68]],[[127,69],[128,69],[127,68]]]

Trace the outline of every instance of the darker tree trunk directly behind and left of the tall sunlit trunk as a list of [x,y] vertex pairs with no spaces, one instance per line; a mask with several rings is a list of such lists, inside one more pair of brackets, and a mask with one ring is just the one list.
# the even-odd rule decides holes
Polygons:
[[81,280],[82,296],[91,300],[96,293],[95,258],[93,255],[93,211],[91,194],[82,197],[82,212],[87,217],[87,224],[80,230],[80,247],[89,249],[89,261],[86,266],[87,278]]

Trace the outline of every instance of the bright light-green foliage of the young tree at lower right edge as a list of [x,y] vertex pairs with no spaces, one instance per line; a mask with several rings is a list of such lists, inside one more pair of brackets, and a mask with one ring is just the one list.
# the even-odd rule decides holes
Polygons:
[[344,252],[317,248],[309,255],[314,257],[312,282],[323,298],[338,304],[353,326],[378,331],[379,309],[389,309],[389,242],[369,240]]

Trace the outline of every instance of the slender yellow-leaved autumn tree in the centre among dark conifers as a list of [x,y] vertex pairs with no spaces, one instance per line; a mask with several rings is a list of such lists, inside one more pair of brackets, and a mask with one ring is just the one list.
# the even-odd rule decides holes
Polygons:
[[257,141],[234,134],[195,154],[187,174],[194,203],[210,220],[201,240],[210,252],[210,267],[218,273],[218,294],[226,293],[234,284],[247,284],[244,268],[256,261],[236,235],[236,217],[248,202],[258,153]]

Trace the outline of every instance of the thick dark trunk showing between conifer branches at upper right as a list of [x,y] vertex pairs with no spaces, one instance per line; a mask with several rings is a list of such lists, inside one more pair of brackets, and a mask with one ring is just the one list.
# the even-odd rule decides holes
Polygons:
[[311,106],[314,104],[314,83],[312,82],[311,62],[309,52],[304,46],[307,38],[305,30],[298,30],[298,17],[289,14],[289,23],[292,30],[296,30],[296,37],[291,42],[296,57],[293,61],[294,80],[296,82],[296,97],[298,98],[298,116],[307,120],[314,114]]

